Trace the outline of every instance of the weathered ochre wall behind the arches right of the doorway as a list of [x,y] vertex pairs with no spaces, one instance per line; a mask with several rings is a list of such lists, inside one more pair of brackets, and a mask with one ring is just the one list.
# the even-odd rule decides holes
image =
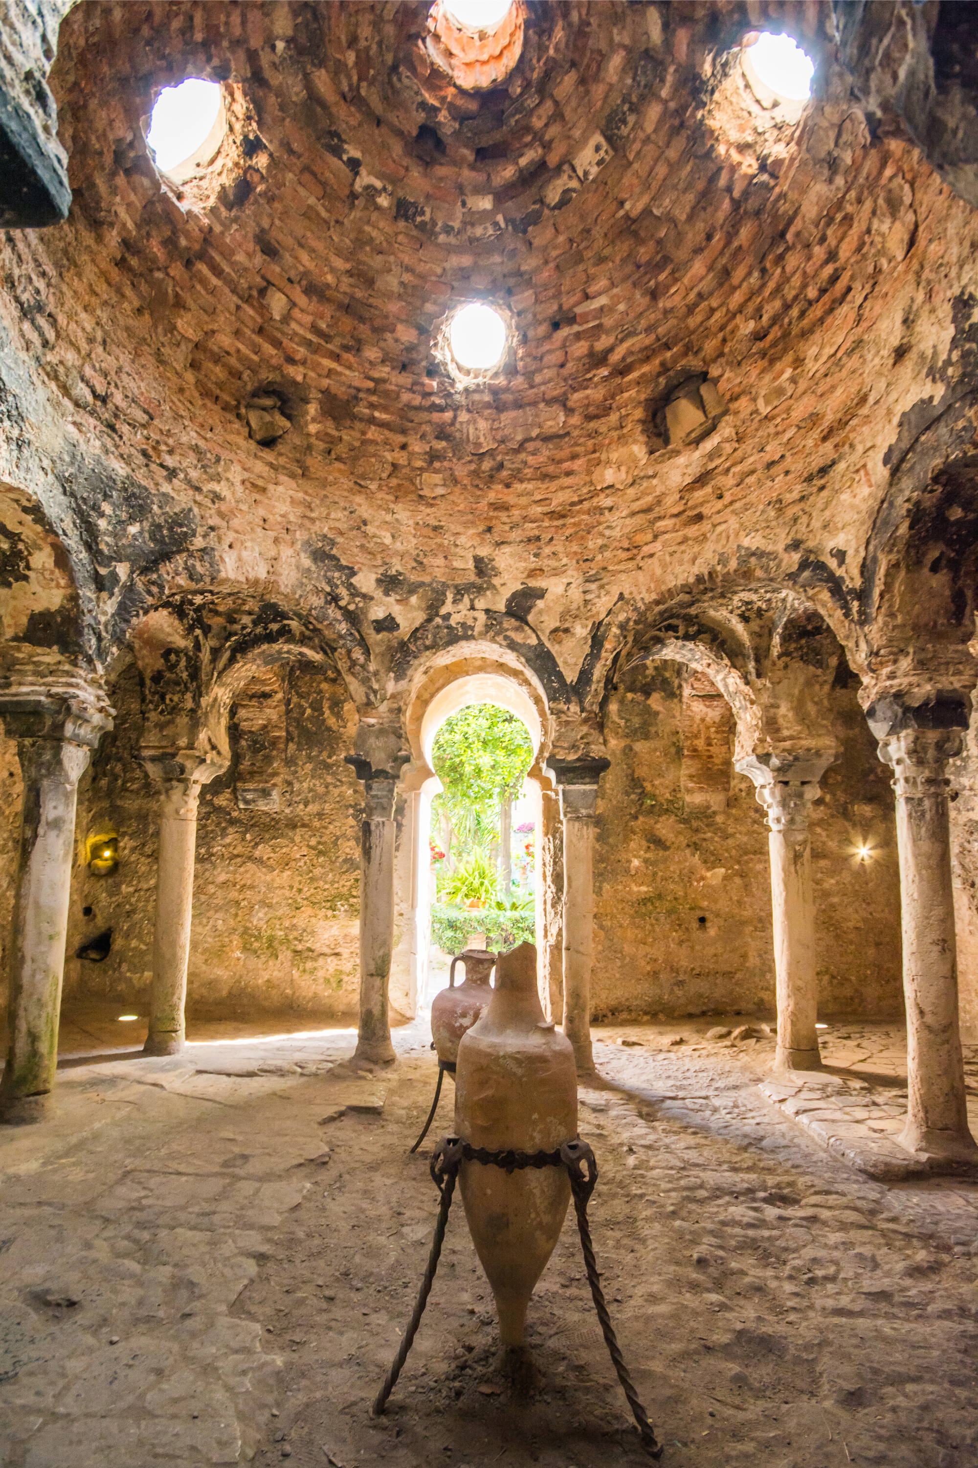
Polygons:
[[[889,772],[856,703],[833,688],[839,762],[812,815],[820,1007],[902,1013],[900,907]],[[774,1013],[767,825],[733,775],[726,809],[682,797],[682,672],[633,668],[606,715],[611,768],[595,844],[592,1006],[603,1014]],[[868,863],[853,847],[874,846]]]

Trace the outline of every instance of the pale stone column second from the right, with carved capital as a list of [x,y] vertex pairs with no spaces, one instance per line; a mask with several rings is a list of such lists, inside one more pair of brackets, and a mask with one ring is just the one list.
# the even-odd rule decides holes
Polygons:
[[815,900],[808,813],[834,752],[761,755],[738,760],[767,812],[777,986],[776,1070],[821,1070]]

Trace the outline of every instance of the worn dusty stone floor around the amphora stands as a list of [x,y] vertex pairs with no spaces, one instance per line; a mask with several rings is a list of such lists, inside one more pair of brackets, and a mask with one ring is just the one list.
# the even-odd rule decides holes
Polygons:
[[[598,1264],[664,1462],[974,1468],[978,1186],[861,1176],[762,1095],[767,1036],[708,1028],[595,1029],[617,1088],[582,1092]],[[531,1307],[529,1400],[497,1374],[459,1210],[369,1417],[437,1202],[408,1151],[434,1085],[424,1022],[361,1080],[328,1070],[349,1032],[254,1031],[101,1060],[95,1028],[54,1117],[0,1135],[0,1464],[647,1462],[572,1223]],[[896,1032],[828,1036],[837,1070],[899,1092]],[[450,1107],[446,1088],[435,1132]]]

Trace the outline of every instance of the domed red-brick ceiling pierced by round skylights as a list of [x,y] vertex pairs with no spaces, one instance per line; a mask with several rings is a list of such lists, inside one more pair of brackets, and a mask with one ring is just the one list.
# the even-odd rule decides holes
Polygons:
[[[622,597],[858,578],[887,454],[974,371],[978,239],[871,135],[831,9],[541,0],[468,56],[430,9],[65,19],[72,213],[4,247],[12,457],[69,502],[103,621],[317,587],[377,646],[509,608],[569,669]],[[817,63],[801,120],[745,81],[765,22]],[[145,131],[186,76],[229,128],[179,188]],[[472,299],[510,349],[465,382],[440,344]],[[720,407],[670,442],[689,380]]]

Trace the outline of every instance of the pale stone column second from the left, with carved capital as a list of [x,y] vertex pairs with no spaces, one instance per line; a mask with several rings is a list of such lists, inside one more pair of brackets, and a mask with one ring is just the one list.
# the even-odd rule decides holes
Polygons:
[[227,769],[195,750],[142,750],[139,760],[160,787],[157,913],[152,929],[152,992],[145,1055],[177,1055],[186,1042],[186,966],[191,956],[196,807],[201,785]]

